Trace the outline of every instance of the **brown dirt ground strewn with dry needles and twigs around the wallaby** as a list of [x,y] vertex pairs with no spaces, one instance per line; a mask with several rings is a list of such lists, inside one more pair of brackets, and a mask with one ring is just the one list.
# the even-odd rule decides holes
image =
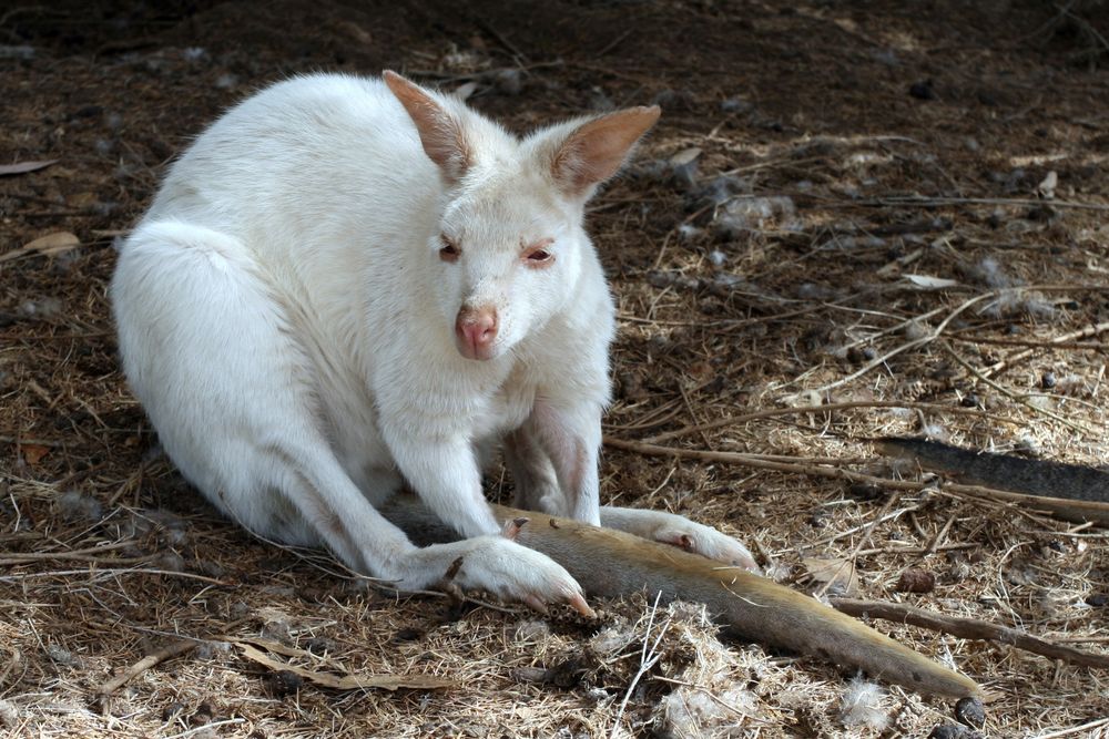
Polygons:
[[[189,487],[119,369],[113,245],[206,122],[314,70],[472,82],[471,104],[518,131],[658,102],[658,129],[590,213],[620,311],[602,497],[733,533],[798,589],[1109,658],[1103,530],[942,484],[826,476],[919,480],[875,455],[867,440],[889,434],[1106,463],[1109,7],[1066,8],[0,7],[0,166],[54,161],[0,175],[0,733],[926,737],[957,722],[949,701],[888,687],[845,712],[849,674],[721,643],[692,607],[598,603],[583,624],[398,601],[323,553],[251,538]],[[828,408],[796,410],[812,406]],[[698,450],[747,456],[678,455]],[[904,592],[906,571],[934,586]],[[1105,667],[874,625],[996,694],[986,736],[1109,736]],[[165,649],[180,654],[142,669]]]

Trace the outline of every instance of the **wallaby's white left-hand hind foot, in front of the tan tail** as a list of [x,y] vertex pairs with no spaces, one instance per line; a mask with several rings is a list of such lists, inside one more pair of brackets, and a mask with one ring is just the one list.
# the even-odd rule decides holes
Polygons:
[[[521,525],[519,520],[509,522],[506,534],[515,535]],[[403,567],[406,575],[397,581],[403,591],[449,583],[464,591],[486,591],[505,601],[519,601],[542,614],[548,605],[567,603],[582,616],[596,616],[578,581],[562,565],[503,535],[415,550]]]

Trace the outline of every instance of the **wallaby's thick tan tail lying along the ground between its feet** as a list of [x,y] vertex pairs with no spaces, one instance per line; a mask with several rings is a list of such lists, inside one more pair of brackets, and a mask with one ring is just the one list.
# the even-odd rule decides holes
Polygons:
[[[414,541],[457,538],[410,495],[394,496],[380,512]],[[924,694],[962,698],[983,692],[970,678],[765,577],[611,528],[505,506],[494,512],[501,522],[530,517],[516,541],[561,564],[590,595],[645,592],[661,603],[703,603],[729,630],[760,644],[862,668]]]

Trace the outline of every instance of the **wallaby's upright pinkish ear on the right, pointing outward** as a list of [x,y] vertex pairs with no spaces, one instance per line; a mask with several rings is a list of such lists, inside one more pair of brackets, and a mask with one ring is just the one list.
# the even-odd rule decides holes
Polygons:
[[617,173],[660,113],[658,105],[629,107],[578,126],[551,161],[554,182],[572,197],[589,195],[593,186]]

